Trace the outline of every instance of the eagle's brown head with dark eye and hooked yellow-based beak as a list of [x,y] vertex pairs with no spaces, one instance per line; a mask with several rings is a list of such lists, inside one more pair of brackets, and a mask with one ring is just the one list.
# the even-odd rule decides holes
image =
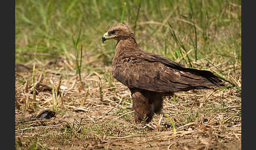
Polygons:
[[116,24],[111,27],[102,37],[102,42],[108,39],[115,39],[117,41],[134,37],[133,31],[124,24]]

